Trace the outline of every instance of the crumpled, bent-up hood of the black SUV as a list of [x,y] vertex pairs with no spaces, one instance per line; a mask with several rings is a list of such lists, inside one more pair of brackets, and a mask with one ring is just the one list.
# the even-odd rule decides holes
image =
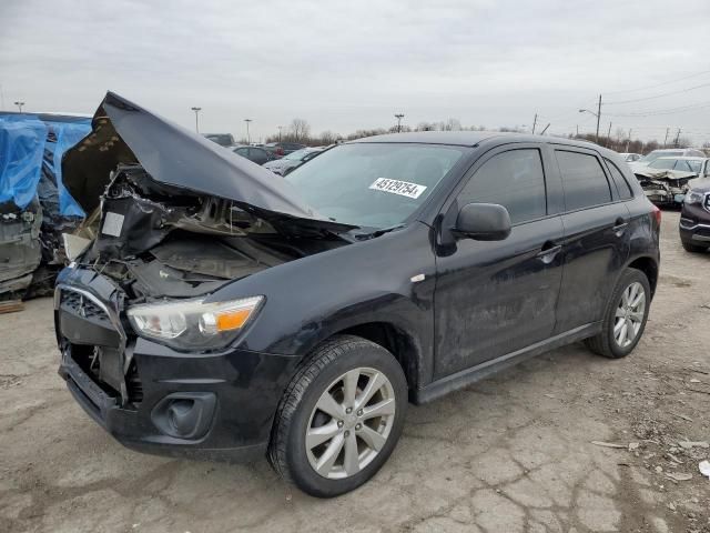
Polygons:
[[99,205],[120,163],[140,164],[161,183],[233,200],[270,221],[284,222],[285,215],[329,231],[353,228],[318,214],[268,170],[109,91],[91,133],[62,159],[64,183],[87,213]]

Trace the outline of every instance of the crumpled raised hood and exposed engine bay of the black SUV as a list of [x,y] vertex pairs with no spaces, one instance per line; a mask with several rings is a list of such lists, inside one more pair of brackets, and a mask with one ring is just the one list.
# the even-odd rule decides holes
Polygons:
[[210,293],[347,244],[354,228],[320,215],[270,171],[111,92],[62,169],[91,213],[63,235],[67,257],[118,282],[129,303]]

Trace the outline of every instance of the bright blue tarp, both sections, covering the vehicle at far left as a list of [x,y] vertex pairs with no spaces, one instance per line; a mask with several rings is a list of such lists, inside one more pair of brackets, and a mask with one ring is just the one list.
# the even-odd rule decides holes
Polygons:
[[[43,180],[40,201],[49,192],[59,197],[61,217],[84,217],[83,210],[62,182],[62,155],[91,131],[90,118],[32,113],[0,113],[0,202],[12,200],[24,209],[38,193],[42,160],[49,181]],[[44,202],[42,202],[44,203]],[[50,202],[57,209],[57,200]],[[48,205],[44,205],[45,208]]]

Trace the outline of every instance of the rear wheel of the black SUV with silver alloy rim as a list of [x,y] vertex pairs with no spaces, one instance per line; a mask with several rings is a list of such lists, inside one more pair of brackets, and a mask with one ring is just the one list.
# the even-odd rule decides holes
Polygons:
[[601,332],[585,341],[587,348],[605,358],[626,358],[643,334],[650,303],[651,285],[646,274],[627,269],[609,298]]

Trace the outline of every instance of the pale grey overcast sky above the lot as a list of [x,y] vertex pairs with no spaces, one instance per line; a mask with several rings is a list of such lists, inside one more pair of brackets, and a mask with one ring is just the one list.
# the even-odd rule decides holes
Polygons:
[[190,128],[200,105],[205,132],[241,137],[251,118],[253,139],[395,112],[528,129],[538,112],[568,133],[596,128],[578,109],[601,92],[602,130],[710,140],[710,1],[523,3],[0,0],[0,105],[92,113],[112,90]]

